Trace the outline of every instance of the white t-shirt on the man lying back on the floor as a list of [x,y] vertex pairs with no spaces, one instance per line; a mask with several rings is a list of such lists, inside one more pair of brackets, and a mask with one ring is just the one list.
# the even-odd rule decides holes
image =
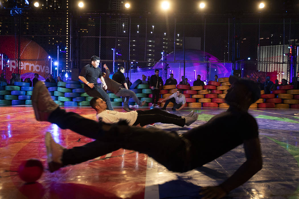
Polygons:
[[117,123],[120,120],[126,120],[129,126],[132,126],[137,120],[138,113],[136,111],[131,112],[118,112],[112,110],[104,110],[97,114],[97,120],[102,118],[102,121],[108,124]]

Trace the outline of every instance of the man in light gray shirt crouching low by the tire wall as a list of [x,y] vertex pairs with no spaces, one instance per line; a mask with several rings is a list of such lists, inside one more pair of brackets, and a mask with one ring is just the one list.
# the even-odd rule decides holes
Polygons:
[[163,102],[165,101],[164,106],[161,108],[162,110],[166,110],[167,105],[169,104],[169,102],[173,103],[173,110],[179,111],[182,108],[185,107],[186,105],[186,98],[185,95],[182,93],[183,91],[181,89],[178,89],[176,91],[176,93],[173,93],[172,95],[170,95],[169,97],[160,100],[158,102]]

